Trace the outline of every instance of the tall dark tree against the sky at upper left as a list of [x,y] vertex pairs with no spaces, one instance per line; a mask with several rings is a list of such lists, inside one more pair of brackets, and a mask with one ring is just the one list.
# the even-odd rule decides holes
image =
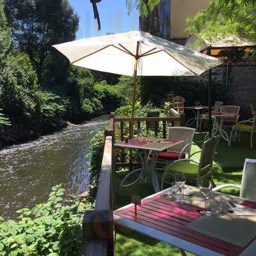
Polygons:
[[51,45],[74,40],[78,17],[68,0],[4,0],[15,47],[29,55],[42,84]]

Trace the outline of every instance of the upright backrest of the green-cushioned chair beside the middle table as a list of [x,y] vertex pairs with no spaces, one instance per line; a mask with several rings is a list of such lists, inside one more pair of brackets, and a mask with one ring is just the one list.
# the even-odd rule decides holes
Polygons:
[[220,136],[214,136],[211,139],[204,142],[201,156],[200,156],[201,170],[207,167],[211,168],[216,147],[218,146],[219,141],[220,141]]

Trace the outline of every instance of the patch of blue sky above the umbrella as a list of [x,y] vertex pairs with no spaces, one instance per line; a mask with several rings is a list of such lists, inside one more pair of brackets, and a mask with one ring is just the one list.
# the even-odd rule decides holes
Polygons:
[[106,35],[108,32],[121,33],[138,30],[138,11],[134,10],[131,15],[128,15],[125,0],[102,0],[97,4],[101,22],[100,31],[98,31],[97,20],[93,17],[90,0],[69,0],[69,2],[79,16],[76,39]]

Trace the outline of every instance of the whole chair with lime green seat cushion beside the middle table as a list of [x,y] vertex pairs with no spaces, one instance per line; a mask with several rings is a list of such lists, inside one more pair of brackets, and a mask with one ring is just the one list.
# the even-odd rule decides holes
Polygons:
[[163,189],[164,183],[170,184],[165,178],[176,172],[184,172],[187,179],[195,179],[197,187],[199,187],[200,180],[206,178],[212,179],[212,163],[219,140],[220,136],[212,137],[204,142],[202,150],[191,154],[193,156],[200,152],[200,161],[184,158],[171,163],[164,171],[161,189]]

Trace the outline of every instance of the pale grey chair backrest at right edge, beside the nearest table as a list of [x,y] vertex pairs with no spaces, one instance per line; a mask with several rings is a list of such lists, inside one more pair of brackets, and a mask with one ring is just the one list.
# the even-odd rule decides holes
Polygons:
[[240,196],[256,200],[256,159],[245,159]]

